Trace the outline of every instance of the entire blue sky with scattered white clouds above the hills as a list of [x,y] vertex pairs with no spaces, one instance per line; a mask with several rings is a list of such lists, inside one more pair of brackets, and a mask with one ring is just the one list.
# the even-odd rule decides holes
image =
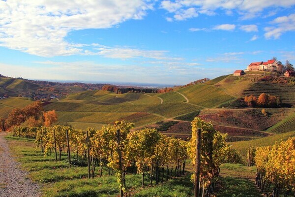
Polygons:
[[0,74],[183,85],[295,63],[295,0],[0,0]]

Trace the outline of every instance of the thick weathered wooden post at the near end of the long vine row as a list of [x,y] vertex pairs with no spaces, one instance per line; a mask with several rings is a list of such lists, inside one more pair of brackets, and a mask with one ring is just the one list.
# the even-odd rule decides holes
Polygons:
[[195,191],[194,197],[200,197],[200,165],[201,165],[201,129],[197,130],[196,139],[196,166],[195,166]]

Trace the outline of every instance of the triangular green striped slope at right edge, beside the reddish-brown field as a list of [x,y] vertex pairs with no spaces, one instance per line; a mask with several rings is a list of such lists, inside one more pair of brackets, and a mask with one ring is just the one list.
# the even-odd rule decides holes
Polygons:
[[295,130],[295,113],[282,121],[278,122],[274,126],[268,128],[266,131],[274,133],[283,133]]

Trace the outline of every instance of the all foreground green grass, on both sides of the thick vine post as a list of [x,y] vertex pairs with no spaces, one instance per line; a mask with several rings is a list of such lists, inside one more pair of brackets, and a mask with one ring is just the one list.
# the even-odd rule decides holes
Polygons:
[[[16,155],[22,167],[29,171],[28,177],[41,186],[42,195],[46,197],[117,197],[118,182],[115,175],[107,175],[87,179],[87,167],[72,165],[68,168],[66,154],[62,162],[55,162],[54,155],[44,158],[43,153],[36,150],[33,139],[17,138],[10,135],[9,146]],[[187,169],[192,170],[190,162]],[[241,164],[222,164],[215,195],[217,197],[259,197],[259,191],[254,186],[255,167]],[[141,188],[140,174],[126,175],[126,191],[132,197],[192,197],[191,173],[183,177],[164,181],[157,186],[147,187],[148,175],[145,176],[146,187]],[[164,179],[165,180],[165,179]]]

